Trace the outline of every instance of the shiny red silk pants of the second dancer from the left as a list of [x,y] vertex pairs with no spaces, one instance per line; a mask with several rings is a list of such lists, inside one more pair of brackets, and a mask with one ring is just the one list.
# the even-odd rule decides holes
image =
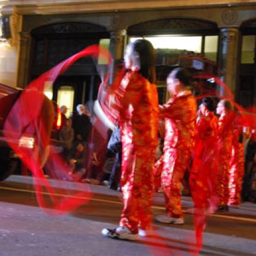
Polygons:
[[162,188],[166,199],[167,214],[182,217],[182,180],[188,167],[191,151],[165,148],[163,156]]

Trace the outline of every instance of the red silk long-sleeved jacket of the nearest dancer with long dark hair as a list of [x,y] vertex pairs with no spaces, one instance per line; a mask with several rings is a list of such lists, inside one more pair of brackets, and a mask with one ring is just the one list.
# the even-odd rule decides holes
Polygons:
[[128,71],[114,92],[113,107],[120,113],[121,141],[156,146],[158,135],[157,87],[138,71]]

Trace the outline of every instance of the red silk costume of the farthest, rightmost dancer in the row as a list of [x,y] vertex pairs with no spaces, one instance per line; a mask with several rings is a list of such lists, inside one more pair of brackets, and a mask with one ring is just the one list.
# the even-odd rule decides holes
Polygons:
[[239,130],[235,130],[229,169],[229,204],[233,205],[241,204],[242,180],[245,170],[243,143],[239,142],[239,135]]

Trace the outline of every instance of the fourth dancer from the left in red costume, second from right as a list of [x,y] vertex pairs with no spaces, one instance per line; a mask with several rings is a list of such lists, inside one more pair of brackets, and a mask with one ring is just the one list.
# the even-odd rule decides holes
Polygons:
[[218,118],[218,171],[217,195],[219,197],[218,210],[229,210],[229,166],[233,141],[233,105],[227,99],[218,102],[216,113]]

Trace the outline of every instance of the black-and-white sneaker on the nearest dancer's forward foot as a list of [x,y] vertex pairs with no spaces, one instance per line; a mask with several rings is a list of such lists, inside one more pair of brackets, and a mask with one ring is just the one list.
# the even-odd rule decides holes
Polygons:
[[108,236],[108,238],[117,238],[122,240],[138,240],[139,235],[130,232],[127,227],[117,227],[117,229],[102,229],[102,235]]

